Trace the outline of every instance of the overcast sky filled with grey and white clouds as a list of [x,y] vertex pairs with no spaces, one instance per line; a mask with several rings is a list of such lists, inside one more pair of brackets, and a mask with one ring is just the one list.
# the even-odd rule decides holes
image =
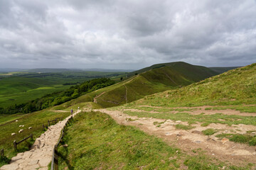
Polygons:
[[0,68],[256,62],[256,0],[0,0]]

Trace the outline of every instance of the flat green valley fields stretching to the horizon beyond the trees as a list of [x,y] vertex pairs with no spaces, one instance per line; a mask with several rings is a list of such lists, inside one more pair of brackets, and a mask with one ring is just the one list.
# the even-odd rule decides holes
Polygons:
[[55,91],[64,91],[97,77],[118,77],[124,72],[61,72],[0,74],[0,108],[41,98]]

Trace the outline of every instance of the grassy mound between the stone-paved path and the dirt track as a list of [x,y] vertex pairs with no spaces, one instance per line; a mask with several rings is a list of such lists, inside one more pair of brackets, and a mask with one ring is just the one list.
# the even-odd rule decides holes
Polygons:
[[225,166],[203,152],[188,156],[159,138],[118,125],[104,113],[80,113],[74,120],[63,140],[68,147],[58,149],[59,169],[219,169]]

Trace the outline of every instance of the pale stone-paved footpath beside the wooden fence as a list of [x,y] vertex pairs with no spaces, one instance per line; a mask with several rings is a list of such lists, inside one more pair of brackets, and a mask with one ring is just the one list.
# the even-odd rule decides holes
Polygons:
[[[77,113],[80,113],[80,110],[76,111],[73,116]],[[48,164],[53,156],[53,147],[58,142],[60,132],[70,117],[71,115],[65,120],[51,125],[46,132],[36,139],[31,150],[18,153],[16,157],[11,159],[10,164],[1,166],[0,170],[48,170]]]

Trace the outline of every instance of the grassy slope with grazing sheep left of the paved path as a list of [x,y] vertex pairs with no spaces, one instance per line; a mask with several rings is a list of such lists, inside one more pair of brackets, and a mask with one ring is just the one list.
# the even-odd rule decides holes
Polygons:
[[[42,125],[47,125],[48,120],[53,120],[59,117],[67,117],[70,113],[55,113],[49,110],[38,111],[35,113],[30,113],[23,115],[18,118],[18,122],[11,121],[4,125],[0,125],[0,149],[4,148],[4,154],[9,159],[14,157],[18,152],[24,152],[33,145],[34,140],[27,140],[27,142],[22,142],[18,145],[18,150],[14,151],[14,140],[19,141],[30,134],[33,134],[33,139],[40,136],[44,131]],[[24,127],[19,127],[19,125],[24,125]],[[28,129],[32,127],[32,129]],[[18,130],[23,129],[23,132],[18,133]],[[11,133],[16,133],[16,135],[11,136]],[[0,166],[6,164],[7,162],[0,163]]]

